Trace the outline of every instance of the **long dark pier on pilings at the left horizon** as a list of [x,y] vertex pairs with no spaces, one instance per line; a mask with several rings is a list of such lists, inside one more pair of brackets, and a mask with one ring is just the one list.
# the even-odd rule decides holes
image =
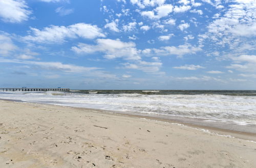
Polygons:
[[29,91],[29,92],[36,92],[36,91],[69,91],[69,88],[0,88],[0,91]]

